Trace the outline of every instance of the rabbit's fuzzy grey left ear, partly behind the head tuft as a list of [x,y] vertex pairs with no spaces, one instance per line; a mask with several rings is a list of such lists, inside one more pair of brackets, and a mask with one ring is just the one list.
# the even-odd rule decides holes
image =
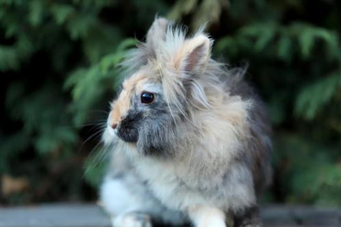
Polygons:
[[147,46],[153,48],[157,42],[165,39],[166,30],[168,27],[169,21],[166,18],[159,17],[155,18],[153,25],[149,29],[146,38]]

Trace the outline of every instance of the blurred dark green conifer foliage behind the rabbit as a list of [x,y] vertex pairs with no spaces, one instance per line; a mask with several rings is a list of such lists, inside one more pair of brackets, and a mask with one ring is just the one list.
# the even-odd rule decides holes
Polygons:
[[[125,52],[155,14],[203,23],[214,57],[248,62],[274,126],[274,202],[341,204],[341,5],[336,0],[0,0],[0,202],[95,198],[96,156]],[[97,125],[92,129],[92,124]]]

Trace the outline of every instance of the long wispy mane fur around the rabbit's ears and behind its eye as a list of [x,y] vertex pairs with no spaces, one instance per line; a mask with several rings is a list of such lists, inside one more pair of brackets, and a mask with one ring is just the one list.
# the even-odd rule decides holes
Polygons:
[[[229,70],[209,55],[205,71],[200,75],[175,70],[174,62],[181,57],[184,46],[200,36],[207,37],[203,29],[201,27],[192,36],[187,36],[185,27],[173,23],[161,31],[155,29],[153,34],[147,35],[147,42],[139,42],[125,57],[121,63],[125,74],[131,75],[141,67],[148,67],[151,79],[162,83],[164,99],[171,113],[179,111],[187,117],[193,116],[195,109],[214,109],[214,105],[221,103],[219,99],[241,81],[244,68]],[[210,40],[210,48],[212,42]]]

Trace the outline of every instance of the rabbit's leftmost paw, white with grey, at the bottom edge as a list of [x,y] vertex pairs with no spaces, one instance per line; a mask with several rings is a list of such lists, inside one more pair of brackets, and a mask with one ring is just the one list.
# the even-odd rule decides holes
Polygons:
[[144,213],[125,213],[112,220],[113,227],[152,227],[151,217]]

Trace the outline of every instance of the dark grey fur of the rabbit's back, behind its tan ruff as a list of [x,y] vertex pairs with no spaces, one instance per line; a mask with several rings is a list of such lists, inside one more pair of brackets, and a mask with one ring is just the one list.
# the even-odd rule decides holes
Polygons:
[[253,172],[253,181],[256,193],[262,191],[270,184],[272,169],[270,165],[271,126],[266,106],[262,99],[249,83],[242,77],[230,80],[230,94],[240,96],[242,99],[251,100],[253,106],[249,109],[249,137],[244,143],[244,153],[240,159],[249,163]]

